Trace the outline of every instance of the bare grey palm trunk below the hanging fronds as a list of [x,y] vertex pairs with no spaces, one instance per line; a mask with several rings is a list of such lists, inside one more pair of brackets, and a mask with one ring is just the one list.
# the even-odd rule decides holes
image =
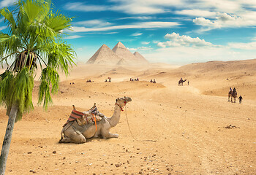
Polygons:
[[7,157],[12,141],[12,131],[14,128],[15,119],[18,112],[18,106],[12,105],[11,112],[9,114],[8,124],[7,124],[7,130],[5,131],[4,141],[3,145],[1,147],[1,156],[0,156],[0,175],[4,175],[5,168],[7,165]]

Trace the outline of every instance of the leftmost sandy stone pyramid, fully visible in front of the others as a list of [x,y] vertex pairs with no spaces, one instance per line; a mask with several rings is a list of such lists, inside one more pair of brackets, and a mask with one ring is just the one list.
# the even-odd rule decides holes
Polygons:
[[103,44],[86,63],[116,65],[120,60],[121,58],[119,58],[115,52],[110,50],[106,44]]

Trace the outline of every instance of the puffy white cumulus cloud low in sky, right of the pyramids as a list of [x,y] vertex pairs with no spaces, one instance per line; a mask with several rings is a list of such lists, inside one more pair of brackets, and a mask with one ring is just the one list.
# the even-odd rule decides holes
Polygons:
[[192,38],[190,36],[176,34],[173,32],[172,34],[166,34],[165,39],[169,39],[167,42],[159,42],[157,44],[158,47],[214,47],[214,44],[210,42],[206,42],[204,39],[200,39],[198,37]]

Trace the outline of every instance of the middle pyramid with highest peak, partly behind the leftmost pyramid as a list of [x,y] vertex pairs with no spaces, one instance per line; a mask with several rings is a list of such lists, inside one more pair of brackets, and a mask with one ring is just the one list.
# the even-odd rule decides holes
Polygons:
[[137,63],[138,59],[135,55],[133,55],[132,52],[130,52],[121,42],[118,42],[116,46],[113,47],[113,52],[115,52],[118,57],[124,59],[124,62],[129,64]]

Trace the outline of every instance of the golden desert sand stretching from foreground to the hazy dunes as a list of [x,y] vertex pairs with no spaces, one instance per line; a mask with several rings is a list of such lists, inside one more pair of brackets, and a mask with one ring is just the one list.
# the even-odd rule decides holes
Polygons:
[[[69,77],[61,76],[59,93],[46,112],[37,106],[36,81],[34,110],[15,123],[6,174],[255,174],[255,67],[256,60],[178,68],[79,63]],[[108,77],[112,82],[104,82]],[[130,82],[131,77],[140,81]],[[181,77],[189,85],[178,86]],[[227,101],[230,87],[243,96],[242,104]],[[116,98],[123,96],[132,101],[110,130],[118,133],[117,139],[59,144],[72,104],[86,111],[95,102],[110,117]],[[0,141],[5,112],[2,107]]]

